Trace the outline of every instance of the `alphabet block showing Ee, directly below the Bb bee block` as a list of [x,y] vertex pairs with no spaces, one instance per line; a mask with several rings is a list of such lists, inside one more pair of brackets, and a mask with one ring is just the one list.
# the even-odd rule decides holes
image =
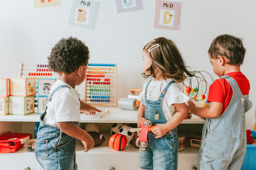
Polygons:
[[9,113],[26,115],[34,113],[34,96],[9,96]]

